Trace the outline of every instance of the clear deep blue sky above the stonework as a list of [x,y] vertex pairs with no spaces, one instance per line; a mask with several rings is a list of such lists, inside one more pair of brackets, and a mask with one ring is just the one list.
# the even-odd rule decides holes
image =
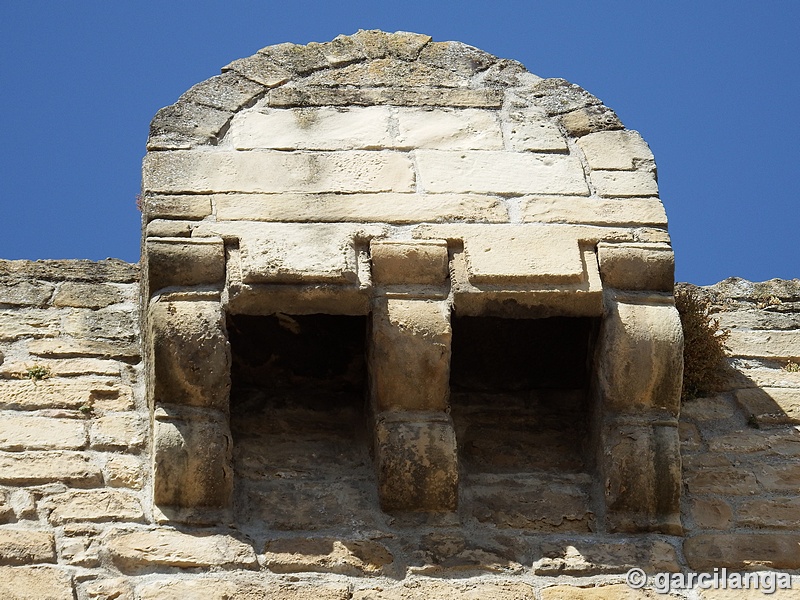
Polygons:
[[415,31],[581,85],[658,164],[677,278],[800,277],[800,2],[0,0],[0,258],[139,258],[150,119],[233,59]]

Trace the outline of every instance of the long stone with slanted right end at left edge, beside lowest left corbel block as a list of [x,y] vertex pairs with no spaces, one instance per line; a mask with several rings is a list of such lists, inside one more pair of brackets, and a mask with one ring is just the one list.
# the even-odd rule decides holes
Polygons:
[[95,487],[102,484],[103,476],[90,457],[77,452],[0,453],[0,483],[40,485],[56,481]]

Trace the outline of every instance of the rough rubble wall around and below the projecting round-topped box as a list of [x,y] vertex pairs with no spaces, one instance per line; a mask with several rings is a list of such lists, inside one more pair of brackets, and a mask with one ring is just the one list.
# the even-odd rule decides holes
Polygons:
[[[289,523],[264,544],[227,527],[159,526],[148,512],[137,278],[119,261],[0,262],[2,598],[760,597],[634,592],[623,579],[634,566],[775,568],[796,589],[773,597],[796,597],[800,374],[784,367],[800,359],[797,280],[701,288],[734,356],[725,391],[683,406],[685,537],[393,522],[375,501],[362,515],[374,535]],[[281,493],[286,515],[320,510]]]

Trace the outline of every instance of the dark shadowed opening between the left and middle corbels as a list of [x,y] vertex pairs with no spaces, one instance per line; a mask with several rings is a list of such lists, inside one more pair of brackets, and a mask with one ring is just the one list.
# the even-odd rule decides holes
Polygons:
[[280,530],[363,519],[375,488],[367,318],[229,315],[227,328],[237,520]]

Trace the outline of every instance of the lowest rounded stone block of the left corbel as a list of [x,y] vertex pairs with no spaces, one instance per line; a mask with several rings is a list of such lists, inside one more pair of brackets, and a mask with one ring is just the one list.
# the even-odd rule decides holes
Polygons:
[[176,508],[229,506],[232,445],[221,415],[187,420],[159,409],[153,424],[153,502]]

